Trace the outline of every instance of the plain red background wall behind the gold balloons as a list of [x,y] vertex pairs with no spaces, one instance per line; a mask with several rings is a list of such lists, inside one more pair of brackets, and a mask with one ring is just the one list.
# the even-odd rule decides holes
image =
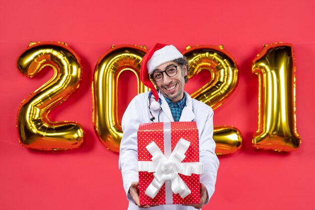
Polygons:
[[[112,44],[223,44],[239,63],[239,85],[215,110],[214,125],[234,125],[241,150],[220,156],[216,191],[203,209],[314,209],[315,3],[301,1],[2,1],[0,3],[0,209],[126,209],[118,154],[97,139],[92,123],[92,77]],[[48,81],[47,68],[22,77],[16,57],[29,41],[66,42],[81,57],[80,88],[50,119],[80,122],[86,141],[72,151],[41,152],[18,142],[20,103]],[[257,151],[258,77],[251,61],[263,44],[293,44],[296,58],[297,152]],[[125,77],[125,79],[128,75]],[[201,77],[188,84],[191,92]],[[121,85],[122,88],[126,88]],[[121,99],[120,113],[136,90]],[[120,96],[122,98],[122,96]]]

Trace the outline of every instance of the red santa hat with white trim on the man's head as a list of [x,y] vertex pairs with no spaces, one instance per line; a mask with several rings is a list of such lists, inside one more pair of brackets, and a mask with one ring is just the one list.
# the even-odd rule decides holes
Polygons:
[[156,102],[159,100],[159,95],[157,95],[157,91],[149,75],[152,74],[157,66],[181,57],[184,56],[173,45],[156,43],[142,58],[140,79],[146,87],[151,89]]

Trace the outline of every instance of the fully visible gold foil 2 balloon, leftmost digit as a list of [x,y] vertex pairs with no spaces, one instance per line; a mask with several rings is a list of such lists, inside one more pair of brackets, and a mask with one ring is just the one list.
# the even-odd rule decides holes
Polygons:
[[77,148],[84,141],[82,127],[75,122],[52,122],[48,113],[78,88],[80,58],[59,42],[31,42],[17,58],[17,67],[26,77],[34,77],[45,66],[53,68],[54,76],[22,102],[17,116],[20,143],[38,150]]

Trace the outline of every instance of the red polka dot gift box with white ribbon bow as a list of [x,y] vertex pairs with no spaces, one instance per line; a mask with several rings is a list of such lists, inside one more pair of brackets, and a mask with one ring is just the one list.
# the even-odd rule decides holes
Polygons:
[[143,123],[137,134],[140,204],[200,203],[196,122]]

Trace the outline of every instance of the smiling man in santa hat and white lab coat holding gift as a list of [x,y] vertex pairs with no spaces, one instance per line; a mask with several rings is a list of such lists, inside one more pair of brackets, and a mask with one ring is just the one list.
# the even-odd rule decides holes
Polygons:
[[[120,144],[119,169],[129,200],[128,209],[200,209],[214,192],[219,161],[214,153],[215,143],[212,138],[213,111],[208,105],[192,99],[184,91],[188,72],[187,59],[173,45],[157,43],[142,59],[141,81],[151,91],[137,95],[122,118],[124,134]],[[140,205],[137,171],[138,126],[140,123],[171,121],[197,123],[200,162],[204,164],[204,173],[200,175],[200,203]]]

